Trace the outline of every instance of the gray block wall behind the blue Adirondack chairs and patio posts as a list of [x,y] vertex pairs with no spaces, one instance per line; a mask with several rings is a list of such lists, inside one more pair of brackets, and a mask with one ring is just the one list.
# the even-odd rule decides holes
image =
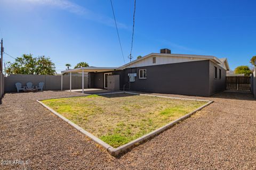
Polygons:
[[[11,74],[5,77],[5,92],[16,91],[15,83],[20,82],[22,86],[26,86],[27,82],[32,82],[34,86],[38,86],[39,82],[44,82],[43,90],[61,90],[61,75],[32,75],[32,74]],[[88,87],[88,77],[84,77],[84,88]],[[63,90],[69,89],[70,77],[63,75]],[[82,77],[72,76],[72,89],[82,89]]]

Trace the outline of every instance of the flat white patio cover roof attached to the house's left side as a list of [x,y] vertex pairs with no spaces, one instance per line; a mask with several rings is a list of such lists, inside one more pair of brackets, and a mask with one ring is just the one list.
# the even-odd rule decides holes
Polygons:
[[79,73],[79,72],[105,72],[105,71],[113,71],[113,70],[123,70],[122,68],[119,67],[79,67],[77,69],[69,69],[62,71],[61,73]]

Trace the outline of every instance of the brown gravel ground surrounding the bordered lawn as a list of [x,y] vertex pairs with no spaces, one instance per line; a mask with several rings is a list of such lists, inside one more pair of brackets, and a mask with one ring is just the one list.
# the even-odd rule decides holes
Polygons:
[[0,105],[1,162],[29,163],[1,164],[0,169],[256,169],[256,101],[251,94],[198,97],[214,103],[119,158],[35,101],[75,95],[81,94],[5,94]]

